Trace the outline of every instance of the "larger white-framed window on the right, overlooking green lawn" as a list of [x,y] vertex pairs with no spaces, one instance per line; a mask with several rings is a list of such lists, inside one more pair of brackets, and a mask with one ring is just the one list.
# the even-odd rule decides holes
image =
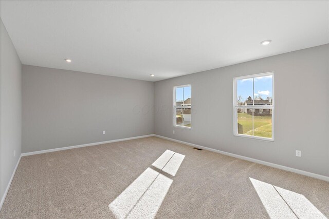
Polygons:
[[234,78],[234,135],[274,141],[273,72]]

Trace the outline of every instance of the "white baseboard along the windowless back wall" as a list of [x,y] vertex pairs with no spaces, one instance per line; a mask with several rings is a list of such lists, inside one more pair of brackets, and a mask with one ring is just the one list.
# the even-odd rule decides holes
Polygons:
[[128,141],[128,140],[134,140],[137,138],[152,137],[152,136],[154,136],[154,134],[141,135],[141,136],[136,136],[136,137],[127,137],[127,138],[121,138],[121,139],[110,140],[110,141],[105,141],[105,142],[96,142],[96,143],[89,143],[89,144],[84,144],[84,145],[75,145],[75,146],[54,148],[54,149],[41,150],[41,151],[32,151],[32,152],[22,153],[22,156],[49,153],[49,152],[54,152],[54,151],[62,151],[62,150],[68,150],[68,149],[73,149],[73,148],[82,148],[82,147],[88,147],[88,146],[94,146],[94,145],[103,145],[103,144],[108,144],[108,143],[113,143],[113,142],[122,142],[122,141]]

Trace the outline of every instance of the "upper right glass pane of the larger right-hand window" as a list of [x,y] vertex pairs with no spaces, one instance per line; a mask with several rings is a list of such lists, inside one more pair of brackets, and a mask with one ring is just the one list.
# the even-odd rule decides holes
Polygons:
[[254,78],[254,105],[272,105],[272,75]]

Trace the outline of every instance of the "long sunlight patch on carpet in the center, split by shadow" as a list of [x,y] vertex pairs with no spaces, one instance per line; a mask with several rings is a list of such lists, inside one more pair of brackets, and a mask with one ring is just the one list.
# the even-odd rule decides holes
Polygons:
[[[175,176],[184,158],[185,155],[166,150],[152,165]],[[172,182],[148,167],[108,208],[116,218],[154,218]]]

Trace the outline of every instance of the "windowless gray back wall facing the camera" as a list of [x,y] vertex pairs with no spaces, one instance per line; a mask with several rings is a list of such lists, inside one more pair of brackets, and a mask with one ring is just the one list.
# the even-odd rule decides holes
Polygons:
[[22,74],[22,152],[153,134],[153,82],[27,65]]

